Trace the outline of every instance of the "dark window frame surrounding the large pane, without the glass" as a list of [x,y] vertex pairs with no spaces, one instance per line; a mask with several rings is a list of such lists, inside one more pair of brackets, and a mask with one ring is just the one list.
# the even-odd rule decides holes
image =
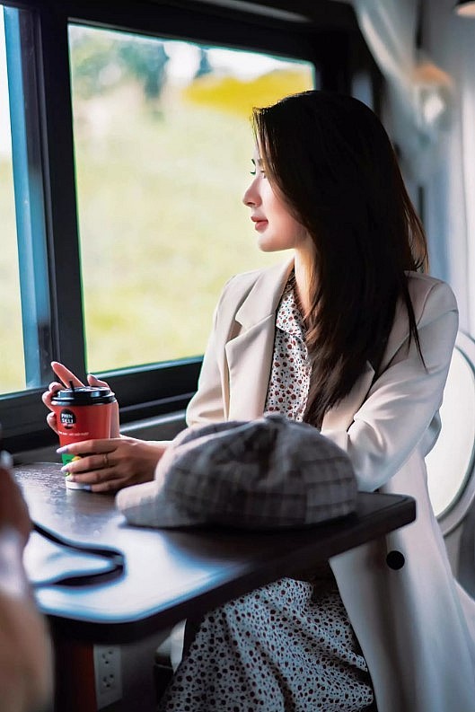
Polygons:
[[[68,24],[303,59],[316,67],[323,88],[344,92],[350,88],[350,48],[360,35],[356,21],[354,26],[349,22],[349,29],[329,31],[186,0],[166,4],[152,0],[5,0],[2,4],[29,10],[32,16],[50,311],[48,336],[40,351],[44,384],[0,396],[4,446],[15,453],[55,442],[40,399],[53,377],[49,362],[61,361],[79,377],[85,375]],[[185,409],[196,391],[201,362],[201,357],[186,358],[98,375],[116,392],[121,423],[125,424]]]

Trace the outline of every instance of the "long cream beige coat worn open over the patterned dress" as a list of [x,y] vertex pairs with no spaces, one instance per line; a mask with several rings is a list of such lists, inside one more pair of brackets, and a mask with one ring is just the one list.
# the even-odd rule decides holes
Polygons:
[[[292,263],[233,277],[216,308],[189,425],[262,415],[277,304]],[[371,365],[323,420],[347,451],[359,488],[415,497],[415,523],[330,561],[374,682],[378,712],[475,710],[475,602],[455,584],[427,494],[424,457],[439,432],[438,409],[458,316],[453,293],[409,274],[427,372],[399,307],[380,374]],[[449,476],[449,473],[447,473]],[[388,551],[405,564],[393,570]]]

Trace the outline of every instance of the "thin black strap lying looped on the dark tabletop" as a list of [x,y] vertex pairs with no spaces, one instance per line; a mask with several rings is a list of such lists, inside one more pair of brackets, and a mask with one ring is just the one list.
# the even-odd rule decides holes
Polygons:
[[49,576],[40,581],[33,581],[31,586],[35,589],[44,586],[61,585],[61,586],[80,586],[80,585],[97,585],[111,581],[114,578],[122,576],[125,571],[125,557],[119,549],[113,547],[96,546],[94,544],[83,544],[77,541],[66,539],[57,532],[53,532],[47,527],[33,522],[33,531],[45,537],[48,541],[52,541],[65,549],[73,549],[82,554],[99,557],[104,560],[107,567],[97,571],[93,568],[83,568],[81,570],[69,571],[60,573],[57,576]]

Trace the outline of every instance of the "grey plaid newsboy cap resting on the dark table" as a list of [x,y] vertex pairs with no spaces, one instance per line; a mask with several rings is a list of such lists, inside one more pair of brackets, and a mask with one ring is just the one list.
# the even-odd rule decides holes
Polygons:
[[299,527],[354,511],[356,479],[347,453],[316,428],[269,415],[187,428],[154,481],[122,489],[116,503],[142,526]]

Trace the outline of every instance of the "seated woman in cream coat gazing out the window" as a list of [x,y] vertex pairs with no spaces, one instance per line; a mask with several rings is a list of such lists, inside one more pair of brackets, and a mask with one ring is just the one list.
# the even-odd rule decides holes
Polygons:
[[[278,410],[311,423],[347,451],[360,489],[416,497],[418,520],[311,581],[283,579],[208,614],[162,709],[469,712],[472,605],[453,582],[424,465],[457,332],[453,294],[418,271],[424,232],[364,104],[304,92],[255,110],[254,129],[244,203],[259,247],[294,258],[224,287],[188,422]],[[114,442],[74,452],[98,453],[82,466],[101,468],[99,453],[119,461]]]

